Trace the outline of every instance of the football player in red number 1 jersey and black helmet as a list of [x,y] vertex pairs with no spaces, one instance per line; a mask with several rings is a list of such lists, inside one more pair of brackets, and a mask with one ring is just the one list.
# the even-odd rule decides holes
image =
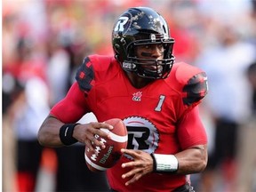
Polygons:
[[[207,93],[204,71],[174,63],[167,23],[148,7],[121,14],[112,44],[115,55],[84,59],[76,83],[42,124],[39,142],[104,148],[94,135],[108,137],[100,128],[112,127],[101,122],[121,118],[128,147],[107,171],[111,190],[194,191],[186,175],[204,171],[207,164],[207,137],[198,114]],[[99,122],[76,124],[89,112]]]

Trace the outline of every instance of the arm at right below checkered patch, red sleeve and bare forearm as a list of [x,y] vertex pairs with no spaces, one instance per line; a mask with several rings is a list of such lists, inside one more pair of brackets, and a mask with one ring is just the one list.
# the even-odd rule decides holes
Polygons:
[[179,162],[177,173],[203,172],[208,160],[207,136],[198,107],[182,117],[178,128],[178,138],[183,150],[175,154]]

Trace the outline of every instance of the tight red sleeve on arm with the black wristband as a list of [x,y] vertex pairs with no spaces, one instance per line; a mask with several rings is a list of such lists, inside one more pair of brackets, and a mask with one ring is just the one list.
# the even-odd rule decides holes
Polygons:
[[[86,110],[87,109],[87,110]],[[56,116],[65,124],[76,123],[87,112],[84,92],[82,92],[77,83],[74,83],[68,91],[67,96],[60,100],[51,110],[52,116]]]

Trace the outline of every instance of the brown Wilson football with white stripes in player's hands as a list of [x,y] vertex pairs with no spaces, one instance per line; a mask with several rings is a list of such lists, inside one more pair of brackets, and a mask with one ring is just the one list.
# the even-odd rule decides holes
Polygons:
[[103,132],[108,132],[111,139],[101,138],[99,135],[94,135],[94,137],[103,142],[106,148],[95,147],[95,151],[92,151],[85,146],[85,162],[92,172],[103,172],[114,166],[122,156],[121,148],[127,147],[128,135],[124,122],[119,118],[112,118],[104,123],[114,127],[111,131],[100,129]]

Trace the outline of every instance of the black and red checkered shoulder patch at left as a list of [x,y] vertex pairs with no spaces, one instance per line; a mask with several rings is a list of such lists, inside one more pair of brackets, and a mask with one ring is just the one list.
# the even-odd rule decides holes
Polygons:
[[94,70],[89,57],[86,57],[83,64],[77,69],[76,81],[84,93],[87,94],[92,89],[92,84],[94,82]]

